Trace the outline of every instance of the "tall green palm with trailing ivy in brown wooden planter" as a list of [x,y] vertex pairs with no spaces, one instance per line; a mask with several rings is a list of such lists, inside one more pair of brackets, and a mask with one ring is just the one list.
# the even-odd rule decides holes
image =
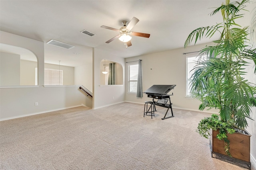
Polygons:
[[[191,96],[202,102],[199,109],[219,109],[219,116],[212,115],[202,119],[197,131],[203,137],[211,139],[212,153],[236,158],[234,161],[239,159],[247,162],[250,168],[250,134],[244,129],[248,126],[246,119],[251,119],[251,108],[256,106],[256,86],[244,79],[243,75],[246,74],[246,64],[256,64],[256,49],[249,43],[248,27],[242,28],[236,23],[238,18],[243,17],[239,12],[245,10],[248,3],[249,0],[226,0],[225,4],[222,3],[211,13],[212,16],[221,12],[223,22],[195,29],[188,35],[184,47],[192,42],[196,44],[203,37],[220,35],[218,40],[213,41],[214,45],[207,45],[200,50],[198,64],[191,77]],[[242,129],[245,134],[240,134],[249,139],[236,136],[238,129]],[[235,136],[236,142],[232,141],[231,135]],[[240,146],[245,141],[248,142],[245,144],[248,146],[246,149]],[[221,149],[215,148],[219,146]],[[239,149],[242,151],[238,151]],[[249,153],[244,153],[244,150]]]

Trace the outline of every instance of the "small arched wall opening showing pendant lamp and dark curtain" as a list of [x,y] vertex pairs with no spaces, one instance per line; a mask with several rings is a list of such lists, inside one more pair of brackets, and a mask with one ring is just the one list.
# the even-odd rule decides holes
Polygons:
[[[109,78],[110,78],[110,63],[114,63],[114,69],[115,69],[115,74],[113,74],[114,77],[114,84],[109,83]],[[107,74],[104,74],[102,72],[105,71],[108,72]],[[111,79],[111,78],[110,78]],[[122,64],[110,61],[107,59],[103,59],[100,61],[100,85],[109,85],[109,86],[114,86],[114,85],[123,85],[123,67]]]

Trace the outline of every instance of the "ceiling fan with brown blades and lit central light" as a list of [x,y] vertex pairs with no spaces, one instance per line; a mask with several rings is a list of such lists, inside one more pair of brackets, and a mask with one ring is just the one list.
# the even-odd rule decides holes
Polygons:
[[120,33],[119,35],[116,35],[112,39],[106,41],[106,43],[110,43],[111,41],[114,41],[115,39],[119,38],[119,40],[124,42],[124,44],[126,43],[126,48],[127,48],[127,46],[130,47],[132,45],[132,43],[130,41],[132,39],[132,37],[130,35],[149,38],[150,34],[138,33],[138,32],[132,32],[131,31],[131,29],[134,27],[134,25],[136,25],[136,23],[138,23],[138,21],[140,21],[140,20],[138,20],[138,18],[135,18],[135,17],[133,17],[132,20],[129,23],[127,21],[122,21],[122,24],[124,26],[121,27],[120,29],[115,29],[115,28],[112,28],[112,27],[107,27],[105,25],[102,25],[101,26],[102,28],[111,29],[111,30],[114,30],[114,31],[118,31]]

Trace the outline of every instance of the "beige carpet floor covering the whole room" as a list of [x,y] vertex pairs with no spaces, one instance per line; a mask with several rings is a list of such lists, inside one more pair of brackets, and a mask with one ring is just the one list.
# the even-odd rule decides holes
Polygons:
[[[121,103],[75,107],[0,122],[2,170],[244,170],[211,157],[196,133],[211,114]],[[251,161],[252,162],[252,161]],[[253,162],[252,162],[253,163]],[[252,164],[252,170],[256,166]]]

